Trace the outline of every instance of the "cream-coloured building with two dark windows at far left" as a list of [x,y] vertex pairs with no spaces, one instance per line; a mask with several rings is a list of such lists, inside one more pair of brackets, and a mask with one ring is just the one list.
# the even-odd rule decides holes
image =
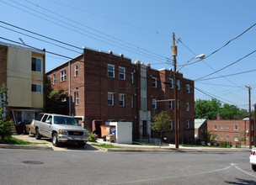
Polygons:
[[45,51],[0,42],[0,86],[8,87],[8,119],[29,122],[44,107]]

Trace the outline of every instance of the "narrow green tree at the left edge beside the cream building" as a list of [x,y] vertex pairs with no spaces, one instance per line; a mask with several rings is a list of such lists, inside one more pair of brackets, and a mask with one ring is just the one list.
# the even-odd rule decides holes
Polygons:
[[5,140],[12,135],[11,122],[6,119],[6,107],[8,106],[7,99],[7,87],[3,83],[0,89],[0,141]]

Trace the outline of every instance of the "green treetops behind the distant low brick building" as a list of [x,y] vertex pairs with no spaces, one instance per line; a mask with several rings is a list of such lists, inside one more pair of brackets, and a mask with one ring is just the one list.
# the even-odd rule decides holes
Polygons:
[[248,117],[248,112],[245,109],[227,103],[222,105],[216,99],[198,99],[195,101],[195,119],[216,119],[218,113],[221,114],[221,119],[244,119]]

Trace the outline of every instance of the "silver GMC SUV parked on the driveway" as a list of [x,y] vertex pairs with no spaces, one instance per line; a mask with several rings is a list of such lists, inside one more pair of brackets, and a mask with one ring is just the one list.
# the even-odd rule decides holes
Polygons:
[[88,141],[88,130],[77,124],[72,116],[61,114],[39,114],[34,122],[35,139],[42,136],[51,138],[52,145],[58,146],[61,142],[77,143],[83,147]]

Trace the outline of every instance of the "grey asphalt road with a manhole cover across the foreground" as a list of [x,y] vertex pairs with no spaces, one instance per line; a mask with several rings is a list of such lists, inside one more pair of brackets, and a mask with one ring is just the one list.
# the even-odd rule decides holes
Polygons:
[[0,149],[0,184],[256,184],[249,152]]

